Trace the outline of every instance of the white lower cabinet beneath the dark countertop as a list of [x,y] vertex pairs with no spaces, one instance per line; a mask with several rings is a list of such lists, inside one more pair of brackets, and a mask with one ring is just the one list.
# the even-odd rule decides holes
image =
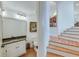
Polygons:
[[19,41],[11,44],[7,44],[4,47],[6,57],[17,57],[21,56],[26,52],[26,43],[24,41]]

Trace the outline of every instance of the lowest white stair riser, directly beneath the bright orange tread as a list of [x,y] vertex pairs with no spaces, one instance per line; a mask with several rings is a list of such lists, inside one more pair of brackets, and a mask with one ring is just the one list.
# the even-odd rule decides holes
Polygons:
[[70,54],[70,53],[67,53],[67,52],[63,52],[63,51],[58,51],[58,50],[51,49],[51,48],[48,48],[47,51],[51,52],[51,53],[61,55],[61,56],[64,56],[64,57],[78,57],[77,55],[73,55],[73,54]]

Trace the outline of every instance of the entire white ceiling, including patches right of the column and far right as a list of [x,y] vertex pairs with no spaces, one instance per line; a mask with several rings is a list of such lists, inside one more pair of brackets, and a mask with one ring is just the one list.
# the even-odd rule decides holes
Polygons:
[[[16,11],[22,11],[26,14],[35,13],[38,9],[39,2],[38,1],[3,1],[4,9],[12,9]],[[56,11],[56,2],[50,1],[51,11]],[[79,1],[74,2],[74,10],[76,13],[79,13]]]

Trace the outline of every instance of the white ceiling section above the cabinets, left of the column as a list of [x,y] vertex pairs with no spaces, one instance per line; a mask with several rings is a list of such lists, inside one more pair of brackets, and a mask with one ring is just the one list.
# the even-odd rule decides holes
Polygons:
[[33,14],[38,7],[37,1],[3,1],[3,9],[11,9],[26,14]]

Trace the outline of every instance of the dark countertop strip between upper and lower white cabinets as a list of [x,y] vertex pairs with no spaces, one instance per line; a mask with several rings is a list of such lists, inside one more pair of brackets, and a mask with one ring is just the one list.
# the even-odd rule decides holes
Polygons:
[[3,38],[3,44],[2,45],[11,44],[11,43],[15,43],[15,42],[23,41],[23,40],[26,40],[26,36]]

